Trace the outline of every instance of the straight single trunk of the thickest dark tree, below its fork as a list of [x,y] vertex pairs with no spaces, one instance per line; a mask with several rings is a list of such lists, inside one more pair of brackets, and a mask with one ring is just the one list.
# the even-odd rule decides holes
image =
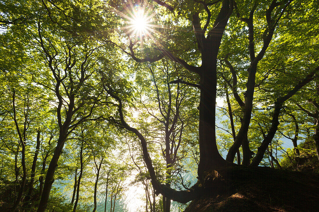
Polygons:
[[219,154],[216,144],[215,115],[216,115],[216,70],[219,43],[205,43],[202,53],[202,73],[200,76],[199,103],[199,164],[198,177],[204,180],[204,171],[214,167],[225,166],[226,161]]

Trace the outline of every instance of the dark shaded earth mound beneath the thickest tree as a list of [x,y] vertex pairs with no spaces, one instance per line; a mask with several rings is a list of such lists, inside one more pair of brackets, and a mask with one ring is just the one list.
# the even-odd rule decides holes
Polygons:
[[207,173],[202,186],[184,212],[319,211],[319,174],[231,166]]

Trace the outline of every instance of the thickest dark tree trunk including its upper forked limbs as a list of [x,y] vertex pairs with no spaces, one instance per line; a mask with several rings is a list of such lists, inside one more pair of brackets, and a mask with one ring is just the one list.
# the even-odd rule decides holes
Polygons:
[[[215,167],[227,166],[228,163],[219,154],[216,144],[215,113],[217,87],[217,54],[221,38],[225,31],[229,16],[233,11],[233,1],[224,0],[214,22],[214,28],[207,37],[201,29],[196,16],[193,16],[194,31],[197,43],[202,52],[200,67],[200,103],[199,103],[199,164],[198,178],[204,179],[204,171]],[[204,30],[205,27],[204,27]]]

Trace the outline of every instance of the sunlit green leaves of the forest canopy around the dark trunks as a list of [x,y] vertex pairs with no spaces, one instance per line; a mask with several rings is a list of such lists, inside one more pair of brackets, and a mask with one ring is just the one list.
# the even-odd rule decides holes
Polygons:
[[[236,135],[245,113],[238,98],[246,101],[245,91],[251,74],[249,29],[243,18],[249,18],[249,12],[256,6],[252,16],[256,56],[263,50],[273,24],[266,18],[270,2],[236,1],[237,8],[229,18],[219,47],[217,73],[214,73],[218,78],[217,97],[224,99],[225,87],[228,89]],[[39,202],[36,196],[56,147],[64,145],[54,173],[55,183],[63,189],[51,191],[48,211],[73,210],[69,197],[64,194],[72,193],[74,178],[79,176],[81,168],[81,207],[77,210],[89,210],[100,163],[97,193],[105,192],[108,185],[108,201],[114,200],[115,195],[118,201],[126,192],[128,176],[135,175],[129,185],[142,186],[148,193],[145,201],[155,199],[154,210],[159,211],[163,202],[155,197],[141,141],[122,129],[119,101],[110,93],[122,100],[124,120],[145,137],[160,183],[184,189],[183,176],[197,175],[198,108],[200,89],[203,89],[198,88],[202,83],[199,74],[186,70],[185,65],[171,60],[172,57],[144,63],[135,60],[156,57],[165,49],[189,65],[200,67],[203,54],[193,32],[193,15],[198,13],[199,25],[204,27],[209,16],[205,4],[209,4],[211,19],[204,32],[207,36],[218,24],[213,20],[219,14],[222,1],[201,4],[169,0],[166,3],[174,12],[154,1],[144,1],[145,5],[117,0],[1,2],[0,190],[4,198],[1,201],[10,204],[15,201],[14,190],[19,190],[23,181],[23,163],[27,172],[24,195],[28,192],[36,132],[40,130],[32,209],[35,210]],[[152,29],[142,37],[130,34],[130,23],[125,18],[132,16],[131,9],[140,7],[152,16]],[[249,148],[255,153],[273,124],[275,102],[318,66],[318,3],[292,1],[279,17],[281,11],[284,6],[278,5],[271,13],[272,17],[279,18],[278,24],[267,51],[256,65],[247,133]],[[278,159],[282,151],[285,152],[280,161],[283,168],[317,166],[314,140],[310,139],[316,123],[307,114],[318,109],[308,101],[311,98],[319,102],[318,75],[315,73],[313,81],[282,105],[277,132],[261,165],[279,168],[274,159]],[[235,78],[236,85],[233,84]],[[225,102],[225,107],[219,106],[217,146],[226,156],[234,136],[228,105]],[[304,141],[299,145],[300,156],[296,156],[293,149],[285,150],[281,142],[284,137],[293,139],[297,134],[296,124],[298,142]],[[26,149],[25,162],[22,144]],[[190,181],[184,180],[183,184],[191,186]]]

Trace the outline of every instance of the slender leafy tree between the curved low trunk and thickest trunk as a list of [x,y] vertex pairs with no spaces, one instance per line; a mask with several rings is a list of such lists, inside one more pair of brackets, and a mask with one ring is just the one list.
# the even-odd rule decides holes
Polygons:
[[[148,63],[146,66],[137,72],[136,77],[137,84],[140,85],[137,95],[143,99],[142,108],[138,109],[139,122],[143,123],[141,130],[149,137],[149,148],[153,142],[153,148],[160,148],[162,151],[166,169],[163,180],[167,187],[171,187],[177,178],[179,180],[182,164],[190,157],[187,152],[194,148],[191,144],[186,144],[185,140],[191,134],[189,125],[197,121],[198,100],[187,98],[187,95],[194,93],[197,88],[183,84],[185,81],[180,79],[179,67],[174,67],[174,62],[162,59],[159,63]],[[149,72],[147,75],[143,73],[145,69]],[[146,112],[143,117],[141,110]],[[151,122],[145,123],[149,119]],[[147,126],[152,128],[145,129]],[[163,197],[162,202],[164,211],[170,211],[170,199]]]

